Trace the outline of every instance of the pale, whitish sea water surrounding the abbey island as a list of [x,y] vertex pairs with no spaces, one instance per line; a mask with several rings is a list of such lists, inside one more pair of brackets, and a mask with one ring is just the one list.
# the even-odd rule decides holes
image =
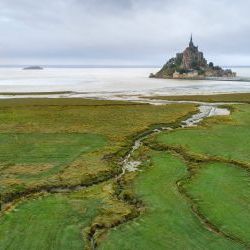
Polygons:
[[[250,81],[166,80],[149,78],[158,68],[54,67],[23,70],[0,68],[0,97],[3,93],[73,92],[63,96],[186,95],[250,92]],[[250,79],[250,67],[233,68]],[[57,97],[58,95],[55,95]],[[61,95],[60,95],[61,96]]]

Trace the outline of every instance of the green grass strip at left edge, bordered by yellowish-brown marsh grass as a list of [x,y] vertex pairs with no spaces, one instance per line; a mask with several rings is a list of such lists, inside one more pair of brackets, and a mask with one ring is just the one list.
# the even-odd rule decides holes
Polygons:
[[[80,133],[0,134],[3,165],[66,164],[83,153],[105,146],[100,135]],[[28,173],[29,174],[29,173]]]

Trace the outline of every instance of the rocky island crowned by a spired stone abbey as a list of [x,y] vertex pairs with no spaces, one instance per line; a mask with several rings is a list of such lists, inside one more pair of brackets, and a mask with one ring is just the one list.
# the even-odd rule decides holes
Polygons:
[[171,58],[162,69],[156,74],[151,73],[151,78],[165,79],[212,79],[212,78],[235,78],[236,73],[231,69],[222,69],[214,66],[212,62],[207,63],[203,53],[194,46],[193,38],[189,46],[182,52],[177,53],[176,57]]

